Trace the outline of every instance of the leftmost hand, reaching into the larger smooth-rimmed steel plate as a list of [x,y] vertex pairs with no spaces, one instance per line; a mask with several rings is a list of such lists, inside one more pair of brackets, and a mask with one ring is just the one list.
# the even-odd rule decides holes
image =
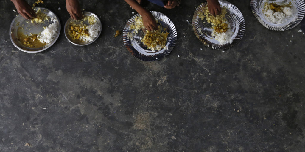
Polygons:
[[11,0],[18,13],[23,16],[25,19],[33,19],[36,17],[36,14],[32,7],[25,0]]

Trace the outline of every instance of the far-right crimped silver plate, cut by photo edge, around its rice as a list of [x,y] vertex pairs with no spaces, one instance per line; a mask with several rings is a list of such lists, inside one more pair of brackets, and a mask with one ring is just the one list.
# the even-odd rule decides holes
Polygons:
[[[263,14],[262,10],[264,8],[265,2],[274,2],[279,5],[284,5],[288,4],[291,2],[292,4],[292,10],[293,10],[293,15],[288,18],[287,22],[284,22],[282,24],[275,24],[268,22],[265,19],[265,15]],[[304,0],[251,0],[251,10],[253,15],[257,18],[257,20],[263,24],[265,27],[271,30],[275,31],[284,31],[288,29],[294,28],[296,25],[298,25],[305,14],[305,4]]]

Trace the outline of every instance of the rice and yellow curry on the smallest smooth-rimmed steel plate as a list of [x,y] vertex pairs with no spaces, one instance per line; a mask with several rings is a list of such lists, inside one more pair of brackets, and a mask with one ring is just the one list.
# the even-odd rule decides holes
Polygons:
[[[89,25],[84,24],[84,21],[88,21]],[[68,33],[73,40],[91,42],[99,35],[100,28],[98,19],[91,15],[85,16],[81,22],[70,22]]]

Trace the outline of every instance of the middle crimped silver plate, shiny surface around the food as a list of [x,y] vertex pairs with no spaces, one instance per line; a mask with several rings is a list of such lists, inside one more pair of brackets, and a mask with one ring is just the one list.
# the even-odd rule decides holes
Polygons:
[[[161,32],[166,31],[169,33],[166,41],[166,46],[168,47],[167,50],[162,49],[160,51],[153,52],[152,50],[147,49],[147,47],[141,42],[142,38],[145,35],[142,30],[139,30],[139,32],[136,34],[133,33],[134,30],[130,29],[130,25],[135,21],[135,18],[137,16],[140,16],[139,14],[132,16],[131,19],[127,21],[123,30],[123,41],[125,47],[133,56],[143,61],[157,61],[163,57],[166,57],[173,50],[177,41],[177,31],[174,26],[174,23],[167,16],[160,12],[150,12],[156,19],[159,20],[159,23],[165,28],[165,30],[161,29]],[[132,39],[128,37],[128,33],[132,34]]]

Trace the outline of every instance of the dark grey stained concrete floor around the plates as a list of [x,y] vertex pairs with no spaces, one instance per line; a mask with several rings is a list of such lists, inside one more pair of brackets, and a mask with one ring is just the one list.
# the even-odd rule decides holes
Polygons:
[[[250,0],[229,0],[246,32],[230,49],[212,50],[186,22],[201,2],[147,6],[174,22],[178,40],[167,57],[144,62],[127,51],[122,35],[113,37],[133,15],[123,0],[81,1],[100,16],[98,40],[75,46],[62,30],[36,54],[10,42],[16,13],[1,1],[0,151],[304,151],[301,25],[271,31],[253,16]],[[54,11],[63,29],[65,2],[40,6]]]

